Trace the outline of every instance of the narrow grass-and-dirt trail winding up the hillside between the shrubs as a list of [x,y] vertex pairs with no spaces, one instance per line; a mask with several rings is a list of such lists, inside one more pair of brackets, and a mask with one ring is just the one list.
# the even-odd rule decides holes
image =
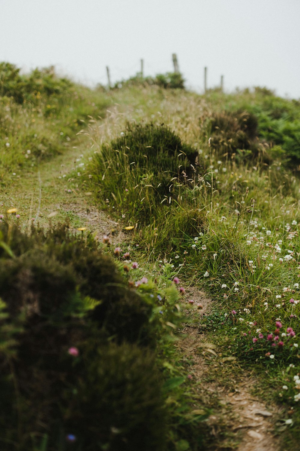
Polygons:
[[[120,223],[114,221],[106,212],[100,211],[90,193],[82,188],[69,189],[69,180],[73,176],[71,174],[74,174],[78,163],[90,154],[90,142],[83,137],[77,146],[66,149],[63,155],[40,164],[42,184],[40,224],[47,226],[49,217],[55,217],[55,222],[69,217],[71,225],[75,227],[74,218],[76,218],[78,226],[88,227],[96,238],[102,239],[105,234],[111,235],[116,245],[121,244],[125,240],[125,235],[122,233]],[[6,202],[10,207],[18,207],[24,225],[27,225],[31,216],[36,214],[38,192],[37,170],[15,180],[4,190]],[[196,304],[202,304],[201,314],[210,312],[211,299],[197,287],[190,287],[187,296]],[[216,449],[283,451],[279,449],[278,441],[270,433],[278,412],[270,410],[262,401],[250,395],[249,387],[255,381],[247,376],[242,381],[231,381],[234,383],[234,391],[220,385],[217,378],[218,369],[224,365],[231,365],[231,377],[234,377],[236,363],[230,358],[226,361],[226,358],[222,359],[217,354],[215,345],[207,341],[205,329],[201,325],[194,327],[187,325],[183,333],[185,337],[177,343],[177,346],[183,352],[184,358],[193,360],[191,375],[199,382],[197,390],[202,399],[207,400],[207,404],[211,404],[212,398],[215,402],[214,413],[207,420],[210,433],[216,437],[222,426],[229,428],[233,437],[233,446]],[[195,405],[195,408],[199,408],[199,405]],[[222,416],[226,417],[226,423],[222,423]]]

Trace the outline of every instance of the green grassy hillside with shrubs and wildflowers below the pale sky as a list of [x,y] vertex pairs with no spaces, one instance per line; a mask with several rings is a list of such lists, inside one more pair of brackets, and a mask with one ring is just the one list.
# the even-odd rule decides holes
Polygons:
[[[206,384],[215,380],[230,392],[233,380],[255,374],[253,393],[280,407],[273,420],[278,449],[299,449],[299,102],[265,88],[200,96],[139,78],[109,92],[92,91],[51,70],[21,78],[16,68],[1,67],[1,358],[7,392],[15,396],[5,411],[3,446],[64,450],[71,446],[66,437],[76,436],[71,442],[78,451],[237,449],[242,437],[220,396],[207,396]],[[85,223],[78,208],[72,210],[79,202]],[[97,234],[89,222],[91,205],[116,224],[107,237],[98,232],[98,244],[91,234],[85,239],[89,231]],[[45,235],[39,227],[48,227],[49,217],[84,230],[70,237],[59,226]],[[28,221],[40,226],[28,233]],[[119,238],[115,228],[123,230]],[[81,249],[88,265],[70,247]],[[45,267],[38,270],[36,258]],[[85,272],[93,265],[99,268]],[[108,282],[94,285],[110,265],[118,279],[113,283],[123,287],[114,308],[105,307]],[[41,285],[23,284],[28,271],[34,278],[38,271]],[[40,307],[40,286],[56,277],[62,286],[57,304],[46,296]],[[188,299],[189,286],[210,295],[208,316]],[[124,290],[132,293],[125,300]],[[47,327],[40,332],[43,321]],[[214,350],[206,356],[210,377],[199,377],[193,358],[177,346],[187,323],[206,331]],[[57,348],[46,369],[42,348],[32,346],[29,360],[21,358],[31,332],[43,343],[48,334],[68,329],[73,342],[63,346],[82,355],[72,364],[82,375],[77,381]],[[111,362],[118,359],[114,369]],[[101,373],[103,362],[107,370]],[[116,405],[100,431],[94,419],[100,415],[102,423],[116,402],[107,374],[113,379],[118,368],[124,368],[118,375],[122,390],[131,393],[132,377],[137,393],[151,398],[148,419],[130,394],[122,409],[125,417],[137,412],[138,423],[124,423]],[[26,383],[29,371],[36,374],[33,389]],[[57,397],[47,392],[34,406],[50,374]],[[146,379],[153,380],[157,397]],[[79,390],[76,400],[68,398],[71,387],[73,395]],[[104,392],[107,404],[97,404],[97,393]],[[36,423],[34,409],[41,412],[43,403],[49,414]],[[7,428],[9,419],[14,426]],[[131,441],[135,428],[147,429],[147,445],[138,436]],[[12,438],[16,431],[18,440]]]

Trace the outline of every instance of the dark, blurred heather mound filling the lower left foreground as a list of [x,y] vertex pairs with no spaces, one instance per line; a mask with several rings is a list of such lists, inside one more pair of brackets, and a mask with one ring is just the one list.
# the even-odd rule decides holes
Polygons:
[[66,226],[0,244],[1,449],[162,449],[152,298]]

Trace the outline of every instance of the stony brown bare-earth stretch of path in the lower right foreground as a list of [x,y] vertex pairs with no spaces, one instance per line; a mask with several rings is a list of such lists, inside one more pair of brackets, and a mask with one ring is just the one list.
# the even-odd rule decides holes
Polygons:
[[[195,287],[190,287],[186,293],[187,301],[192,299],[195,305],[202,306],[197,310],[197,322],[200,322],[201,317],[210,312],[211,299]],[[207,405],[211,405],[215,398],[213,414],[207,420],[210,433],[221,437],[227,429],[226,435],[230,437],[227,444],[219,440],[215,449],[279,451],[278,440],[271,433],[278,410],[251,396],[249,389],[255,384],[255,379],[249,374],[236,376],[234,357],[222,358],[217,347],[207,341],[205,328],[186,325],[183,333],[186,336],[178,346],[187,359],[193,360],[190,373],[199,382],[199,398]]]

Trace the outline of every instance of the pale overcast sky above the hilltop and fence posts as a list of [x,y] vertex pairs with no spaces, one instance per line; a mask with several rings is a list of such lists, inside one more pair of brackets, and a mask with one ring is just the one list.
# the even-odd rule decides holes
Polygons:
[[0,0],[0,60],[55,65],[86,84],[140,70],[172,71],[187,86],[267,86],[300,97],[300,0]]

